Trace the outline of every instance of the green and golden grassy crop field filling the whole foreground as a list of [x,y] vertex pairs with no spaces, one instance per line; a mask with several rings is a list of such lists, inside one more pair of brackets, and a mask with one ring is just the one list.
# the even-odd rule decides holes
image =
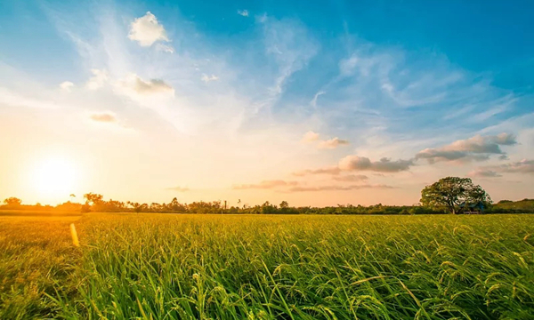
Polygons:
[[1,319],[533,315],[534,215],[0,217]]

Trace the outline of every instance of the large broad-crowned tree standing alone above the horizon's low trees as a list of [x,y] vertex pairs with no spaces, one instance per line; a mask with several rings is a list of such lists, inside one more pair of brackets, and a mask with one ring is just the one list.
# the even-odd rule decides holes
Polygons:
[[449,212],[456,213],[462,203],[489,205],[491,198],[469,178],[447,177],[426,186],[421,191],[420,202],[429,207],[446,207]]

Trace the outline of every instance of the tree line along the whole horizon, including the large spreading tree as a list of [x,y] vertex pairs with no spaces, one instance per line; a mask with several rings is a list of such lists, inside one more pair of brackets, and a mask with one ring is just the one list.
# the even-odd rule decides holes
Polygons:
[[[74,198],[74,195],[70,195]],[[512,202],[502,200],[492,204],[490,195],[474,185],[469,178],[447,177],[421,191],[420,204],[415,205],[383,205],[369,206],[337,204],[337,206],[292,207],[286,201],[279,205],[269,201],[261,205],[227,207],[226,202],[192,202],[180,203],[173,198],[168,204],[140,204],[137,202],[122,202],[113,199],[104,200],[104,196],[88,193],[84,195],[85,203],[79,204],[68,201],[56,206],[51,205],[25,205],[16,197],[4,200],[0,210],[35,210],[35,211],[61,211],[61,212],[160,212],[160,213],[214,213],[214,214],[442,214],[461,213],[480,210],[486,213],[534,213],[534,200],[523,199]],[[239,200],[240,203],[240,200]],[[474,209],[476,208],[476,209]]]

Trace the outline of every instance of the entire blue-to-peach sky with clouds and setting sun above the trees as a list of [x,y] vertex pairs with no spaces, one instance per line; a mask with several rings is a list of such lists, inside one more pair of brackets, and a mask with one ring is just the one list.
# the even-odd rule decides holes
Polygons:
[[[530,1],[0,2],[0,198],[534,197]],[[70,196],[74,195],[74,196]]]

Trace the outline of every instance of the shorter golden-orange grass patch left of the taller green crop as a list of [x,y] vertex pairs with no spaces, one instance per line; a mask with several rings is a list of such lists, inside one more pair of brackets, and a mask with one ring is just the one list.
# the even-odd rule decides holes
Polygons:
[[79,265],[69,223],[77,217],[0,217],[0,319],[47,317],[59,311],[45,294],[69,282]]

